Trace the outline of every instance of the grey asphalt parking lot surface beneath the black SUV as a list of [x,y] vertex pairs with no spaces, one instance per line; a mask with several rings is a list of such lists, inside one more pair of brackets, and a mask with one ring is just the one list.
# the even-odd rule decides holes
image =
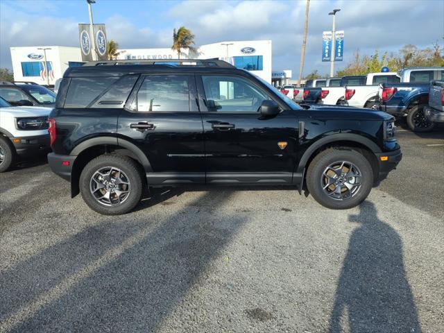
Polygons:
[[444,132],[398,139],[398,169],[346,211],[157,189],[110,217],[44,160],[3,173],[0,332],[442,332]]

